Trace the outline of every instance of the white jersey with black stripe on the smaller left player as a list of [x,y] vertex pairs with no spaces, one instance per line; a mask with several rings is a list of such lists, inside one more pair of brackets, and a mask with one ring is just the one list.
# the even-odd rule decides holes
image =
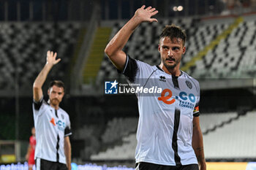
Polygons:
[[72,134],[69,115],[59,107],[50,107],[45,100],[33,103],[37,145],[34,158],[66,163],[64,137]]

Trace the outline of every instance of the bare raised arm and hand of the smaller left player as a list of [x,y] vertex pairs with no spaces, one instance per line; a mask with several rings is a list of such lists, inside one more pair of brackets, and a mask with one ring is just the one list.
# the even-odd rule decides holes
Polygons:
[[56,60],[57,53],[53,53],[52,51],[47,52],[46,63],[42,71],[38,74],[36,80],[34,80],[33,84],[33,98],[34,101],[39,101],[42,98],[42,85],[44,84],[50,69],[61,61],[61,59]]

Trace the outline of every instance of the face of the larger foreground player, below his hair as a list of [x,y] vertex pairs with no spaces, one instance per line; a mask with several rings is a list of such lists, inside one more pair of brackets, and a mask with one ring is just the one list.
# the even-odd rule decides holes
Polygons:
[[186,47],[183,46],[182,39],[170,39],[165,36],[159,41],[158,51],[161,55],[161,61],[167,70],[173,70],[177,66],[179,69],[181,56],[185,53]]

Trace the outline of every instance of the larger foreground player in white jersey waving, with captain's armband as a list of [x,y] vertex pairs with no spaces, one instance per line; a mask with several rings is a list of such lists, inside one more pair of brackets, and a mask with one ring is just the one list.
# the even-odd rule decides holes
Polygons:
[[[157,22],[157,10],[143,5],[110,40],[105,53],[129,82],[143,88],[159,87],[162,93],[138,97],[136,170],[206,170],[200,131],[200,88],[197,80],[180,70],[186,51],[186,34],[178,26],[166,26],[159,38],[159,66],[132,59],[122,51],[140,23]],[[132,55],[132,54],[131,54]],[[145,80],[144,82],[142,80]]]

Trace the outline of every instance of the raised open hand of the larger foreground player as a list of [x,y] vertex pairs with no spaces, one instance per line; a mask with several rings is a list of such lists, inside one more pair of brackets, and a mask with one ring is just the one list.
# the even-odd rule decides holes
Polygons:
[[135,12],[135,18],[138,18],[140,22],[157,22],[156,18],[151,18],[152,16],[156,15],[158,11],[155,8],[152,7],[147,7],[145,9],[145,5],[140,7],[139,9],[136,10]]

